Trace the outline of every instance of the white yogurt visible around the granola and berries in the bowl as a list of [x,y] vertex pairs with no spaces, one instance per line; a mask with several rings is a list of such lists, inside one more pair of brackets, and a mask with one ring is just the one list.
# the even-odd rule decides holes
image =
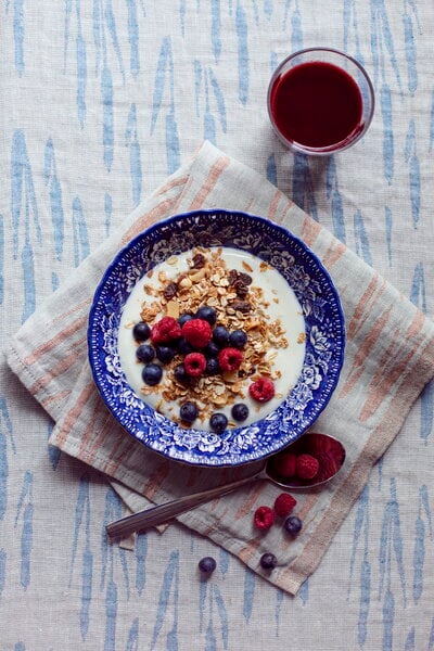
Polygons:
[[[209,251],[215,250],[212,248]],[[273,322],[278,319],[281,321],[284,330],[284,337],[288,341],[288,347],[271,348],[268,352],[268,355],[276,355],[273,370],[278,371],[278,373],[276,373],[277,375],[280,375],[273,380],[276,395],[271,400],[258,404],[252,399],[247,391],[252,381],[250,379],[245,380],[245,397],[242,400],[237,400],[246,404],[250,409],[248,419],[243,423],[237,424],[237,426],[244,426],[264,418],[270,411],[275,410],[279,404],[286,398],[295,385],[302,371],[305,357],[305,322],[302,307],[293,290],[276,269],[268,265],[264,265],[263,260],[246,252],[229,247],[222,247],[220,251],[221,258],[226,261],[228,270],[237,269],[238,271],[246,272],[245,264],[252,269],[252,271],[248,271],[248,276],[252,278],[251,286],[259,286],[263,289],[264,301],[269,304],[269,307],[267,308],[269,321]],[[180,273],[189,270],[188,259],[191,257],[191,251],[180,254],[176,259],[170,258],[170,263],[164,261],[161,265],[157,265],[151,277],[142,278],[136,284],[128,297],[120,318],[118,353],[127,381],[138,396],[153,408],[157,408],[158,411],[168,418],[177,417],[179,413],[179,404],[174,404],[171,401],[164,401],[162,404],[159,393],[145,396],[141,393],[141,390],[144,386],[141,376],[143,365],[136,359],[138,344],[132,336],[132,328],[141,320],[140,312],[143,305],[150,305],[155,301],[155,297],[146,294],[144,285],[158,289],[161,285],[158,273],[161,271],[165,273],[167,279],[175,280]],[[205,304],[206,296],[204,296],[203,299],[203,305]],[[158,315],[156,320],[162,316],[164,315]],[[226,413],[229,421],[231,421],[231,407],[232,405],[229,405],[218,408],[216,411]],[[233,425],[234,423],[232,422],[232,426]],[[197,420],[193,423],[193,426],[201,430],[209,430],[207,421],[200,422]]]

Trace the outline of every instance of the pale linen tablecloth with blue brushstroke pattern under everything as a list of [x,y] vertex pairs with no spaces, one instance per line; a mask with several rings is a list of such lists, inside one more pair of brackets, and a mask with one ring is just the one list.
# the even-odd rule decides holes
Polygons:
[[[2,343],[204,139],[433,317],[433,22],[426,0],[4,0]],[[376,98],[327,158],[285,151],[267,117],[273,68],[314,46],[355,56]],[[3,360],[0,382],[0,651],[434,649],[432,385],[290,597],[181,525],[107,546],[118,494],[47,445]]]

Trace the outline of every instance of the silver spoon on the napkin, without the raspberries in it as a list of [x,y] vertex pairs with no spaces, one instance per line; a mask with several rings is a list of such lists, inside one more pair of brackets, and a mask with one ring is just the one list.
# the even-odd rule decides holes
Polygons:
[[[331,446],[333,447],[333,462],[330,475],[327,475],[326,477],[322,476],[320,477],[320,481],[316,481],[315,477],[312,480],[296,480],[292,477],[285,478],[277,473],[275,465],[276,459],[279,458],[279,456],[288,451],[293,451],[294,446],[301,445],[303,445],[302,451],[309,451],[311,450],[311,445],[314,444],[320,446],[321,449]],[[127,515],[120,520],[110,522],[105,528],[110,538],[122,538],[132,534],[133,532],[143,531],[152,526],[163,524],[176,515],[180,515],[190,509],[194,509],[195,507],[214,499],[215,497],[226,495],[227,493],[230,493],[235,488],[256,480],[269,480],[278,486],[283,486],[284,488],[291,490],[314,488],[330,482],[330,480],[332,480],[341,470],[344,461],[345,448],[336,438],[333,438],[333,436],[329,436],[327,434],[307,433],[294,444],[288,446],[284,450],[269,457],[265,461],[261,469],[252,475],[247,475],[246,477],[230,482],[229,484],[225,484],[222,486],[216,486],[215,488],[208,488],[207,490],[193,493],[192,495],[186,495],[184,497],[174,499],[164,505],[158,505],[156,507],[145,509],[144,511],[133,513],[132,515]]]

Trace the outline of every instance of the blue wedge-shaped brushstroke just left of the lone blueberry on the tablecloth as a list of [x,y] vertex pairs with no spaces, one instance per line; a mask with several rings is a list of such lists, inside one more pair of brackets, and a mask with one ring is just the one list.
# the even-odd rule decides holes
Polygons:
[[151,650],[158,648],[162,649],[163,644],[158,642],[159,633],[163,628],[164,620],[170,616],[168,612],[168,603],[170,592],[174,592],[174,605],[173,605],[173,628],[167,634],[165,648],[168,651],[175,651],[177,646],[177,629],[178,629],[178,607],[179,607],[179,551],[173,551],[167,563],[166,571],[163,577],[162,588],[159,590],[157,612],[155,616],[154,633],[152,636]]

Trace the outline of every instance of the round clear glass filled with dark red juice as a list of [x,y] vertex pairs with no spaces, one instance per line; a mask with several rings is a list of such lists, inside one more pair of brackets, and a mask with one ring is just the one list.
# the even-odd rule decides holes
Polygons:
[[289,146],[310,154],[335,153],[368,128],[372,86],[363,68],[345,54],[304,50],[276,71],[268,110],[276,132]]

